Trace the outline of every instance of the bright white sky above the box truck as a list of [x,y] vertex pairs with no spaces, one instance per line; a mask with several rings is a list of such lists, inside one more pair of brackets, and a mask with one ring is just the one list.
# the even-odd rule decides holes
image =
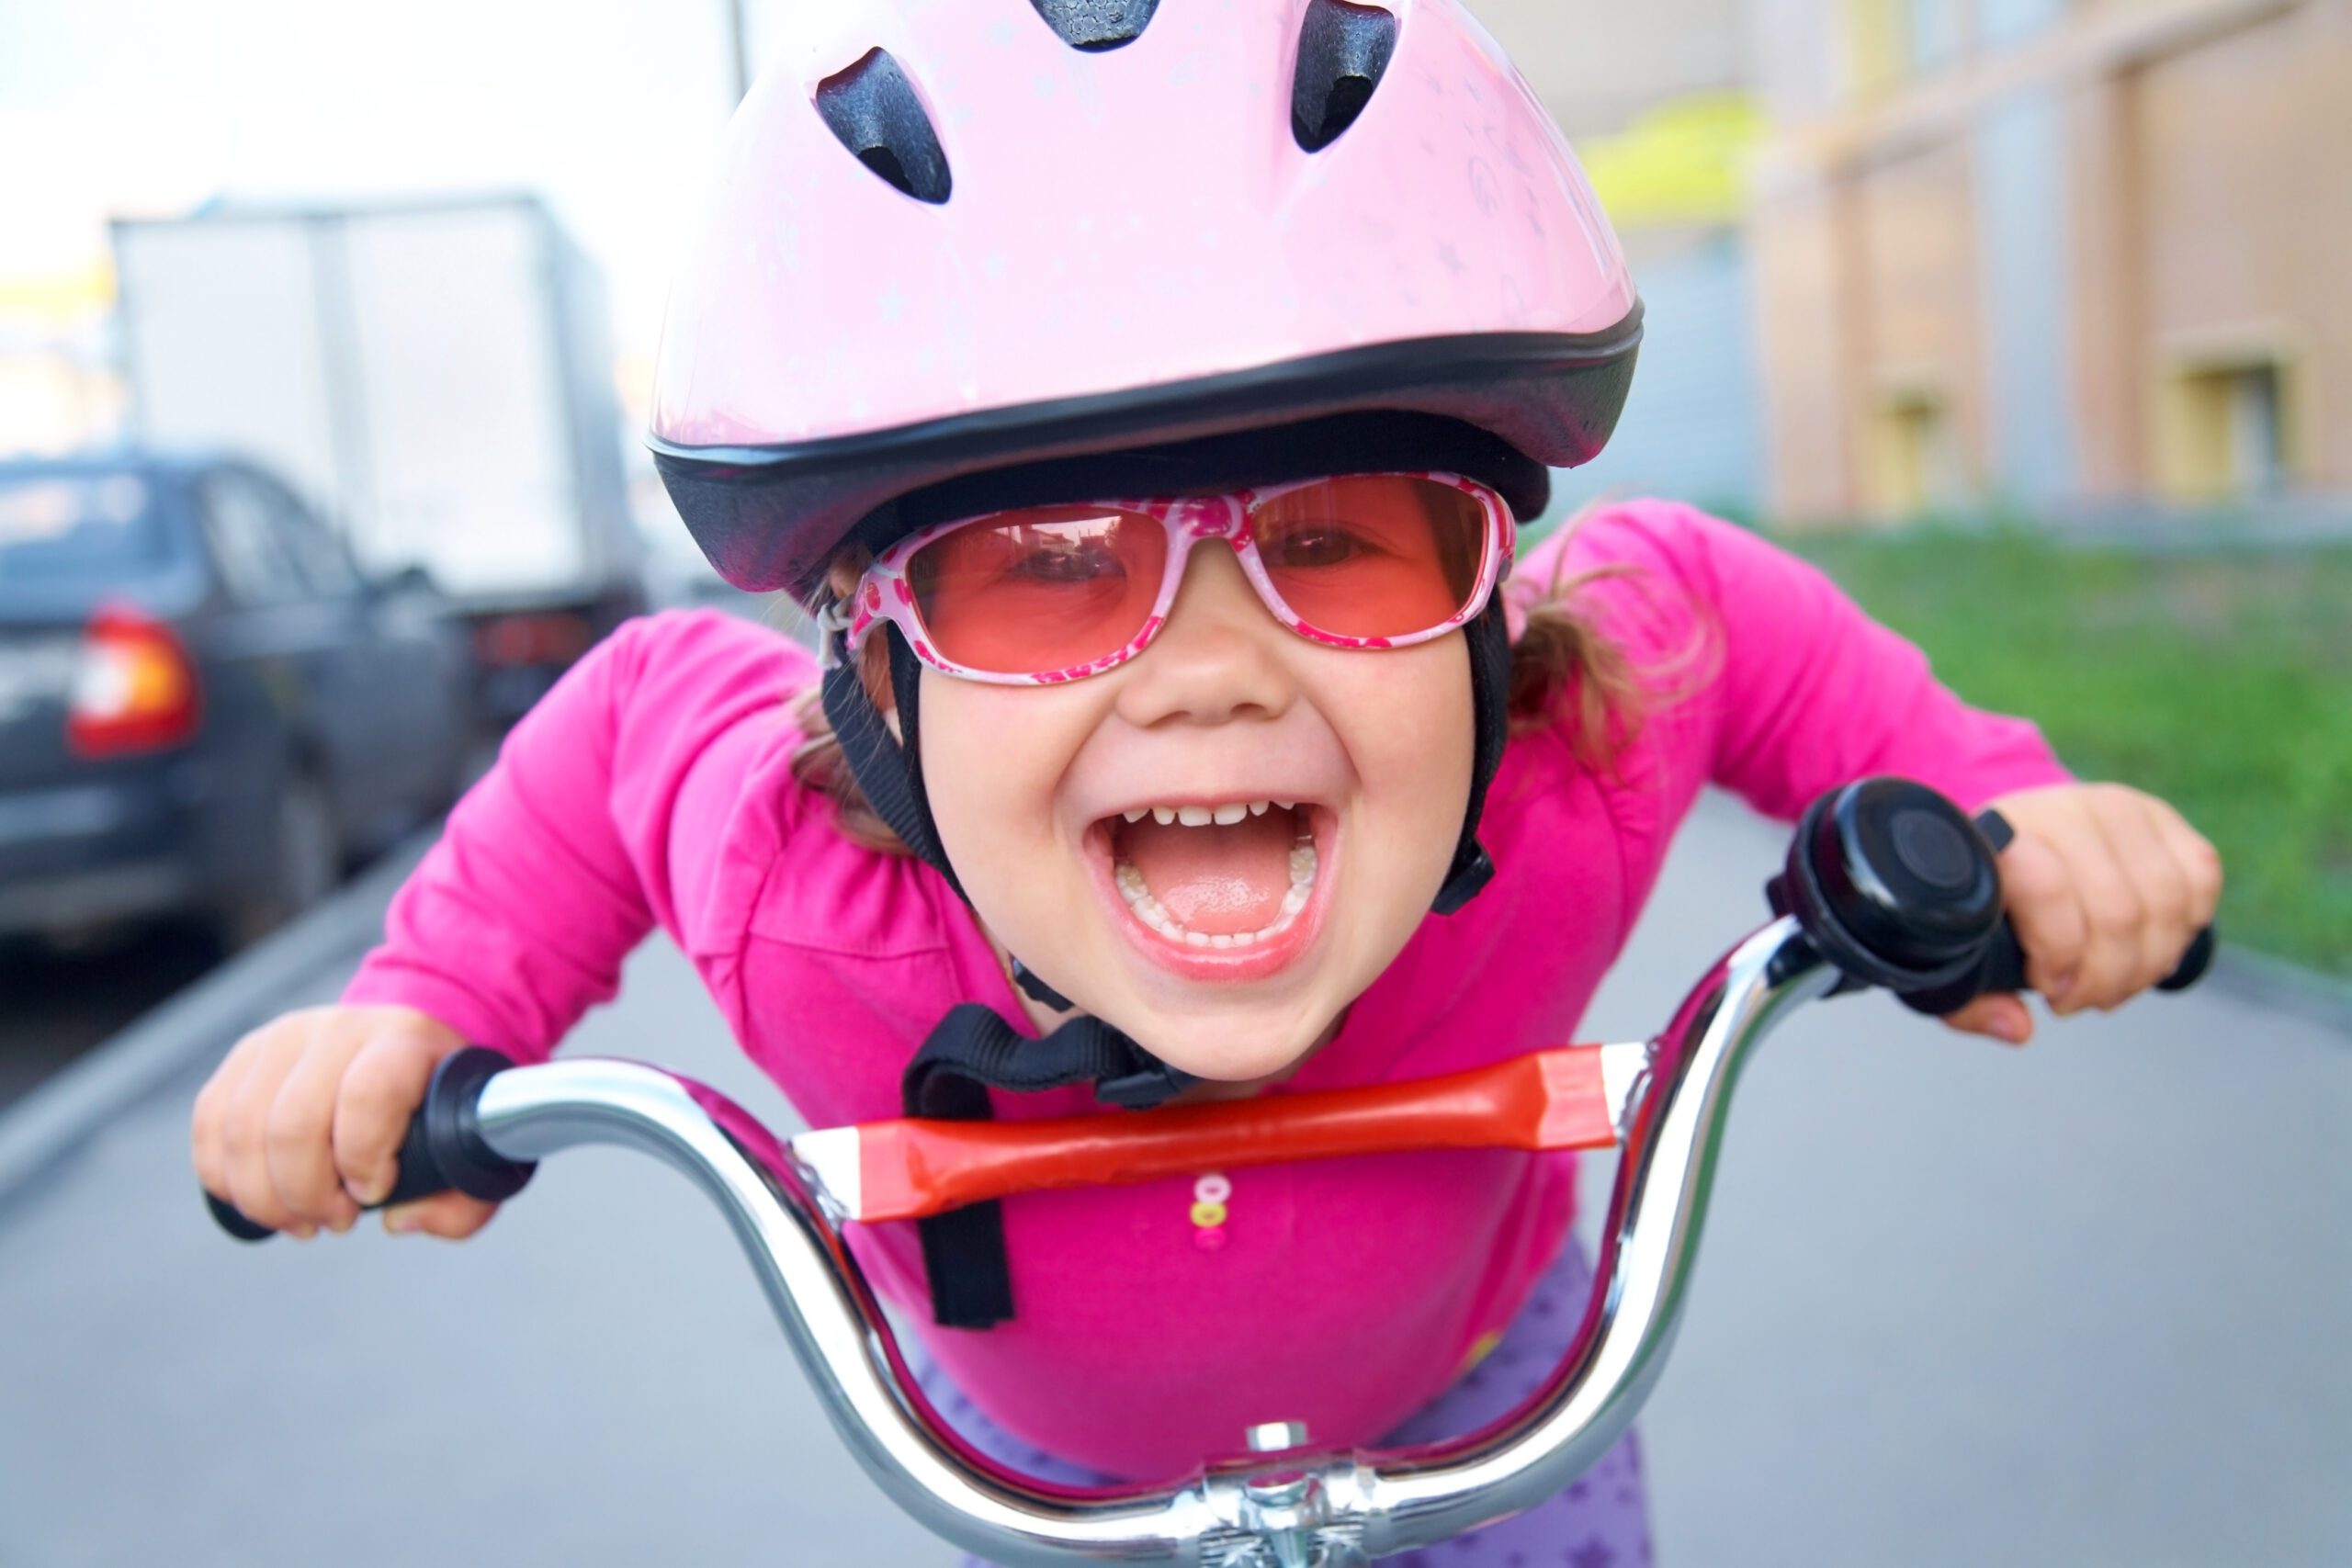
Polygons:
[[0,289],[85,275],[108,214],[534,188],[649,355],[724,28],[724,0],[0,0]]

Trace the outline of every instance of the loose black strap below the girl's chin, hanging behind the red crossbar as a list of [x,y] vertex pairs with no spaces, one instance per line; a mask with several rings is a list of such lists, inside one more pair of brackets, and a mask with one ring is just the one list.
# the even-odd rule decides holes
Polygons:
[[[1094,1084],[1105,1105],[1143,1110],[1192,1081],[1098,1018],[1073,1018],[1044,1039],[1023,1039],[995,1009],[967,1001],[922,1041],[898,1093],[908,1117],[988,1121],[990,1088],[1035,1093]],[[995,1328],[1014,1314],[1000,1204],[953,1208],[915,1227],[931,1281],[931,1316],[943,1328]]]

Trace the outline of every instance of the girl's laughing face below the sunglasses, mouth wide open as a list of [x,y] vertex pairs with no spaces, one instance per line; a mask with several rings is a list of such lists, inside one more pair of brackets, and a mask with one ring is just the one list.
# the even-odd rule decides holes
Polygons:
[[1289,1067],[1397,957],[1454,858],[1470,750],[1463,637],[1312,644],[1223,543],[1105,675],[922,672],[931,813],[981,922],[1207,1079]]

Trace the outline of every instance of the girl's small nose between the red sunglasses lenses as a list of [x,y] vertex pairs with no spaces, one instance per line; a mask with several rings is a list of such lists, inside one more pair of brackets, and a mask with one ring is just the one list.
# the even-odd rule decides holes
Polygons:
[[1152,646],[1127,665],[1120,717],[1155,724],[1225,724],[1279,717],[1296,698],[1279,639],[1232,545],[1202,541],[1185,562],[1176,604]]

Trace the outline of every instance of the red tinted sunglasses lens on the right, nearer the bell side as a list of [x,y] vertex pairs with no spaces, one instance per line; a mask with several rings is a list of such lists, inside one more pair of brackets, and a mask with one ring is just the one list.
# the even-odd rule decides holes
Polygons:
[[1261,501],[1258,559],[1291,614],[1334,637],[1409,637],[1470,604],[1486,508],[1437,480],[1355,475]]

